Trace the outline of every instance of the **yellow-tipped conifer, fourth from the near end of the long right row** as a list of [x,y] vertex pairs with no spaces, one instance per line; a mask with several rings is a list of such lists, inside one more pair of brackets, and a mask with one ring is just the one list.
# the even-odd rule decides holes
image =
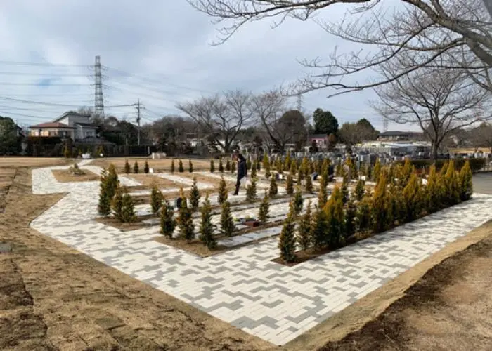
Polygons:
[[339,187],[335,187],[323,211],[326,214],[326,225],[328,229],[327,244],[330,248],[335,249],[342,244],[344,234],[343,194]]

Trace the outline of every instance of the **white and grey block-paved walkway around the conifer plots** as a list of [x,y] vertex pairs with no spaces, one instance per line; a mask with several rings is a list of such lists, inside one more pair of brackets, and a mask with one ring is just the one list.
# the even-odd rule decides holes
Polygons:
[[34,229],[276,345],[492,217],[492,197],[476,194],[465,204],[294,267],[271,262],[278,256],[276,239],[200,258],[154,241],[157,227],[121,232],[97,223],[98,183],[57,183],[50,171],[57,168],[66,167],[32,171],[35,194],[69,193],[32,222]]

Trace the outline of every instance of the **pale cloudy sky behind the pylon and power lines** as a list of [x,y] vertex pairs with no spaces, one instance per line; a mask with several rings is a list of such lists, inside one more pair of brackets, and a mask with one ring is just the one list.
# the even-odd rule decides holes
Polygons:
[[[334,20],[343,13],[339,6],[321,15]],[[312,21],[270,26],[255,22],[226,44],[212,46],[216,26],[184,0],[1,1],[0,115],[29,125],[93,106],[96,55],[107,67],[105,114],[134,121],[134,107],[110,106],[131,105],[140,98],[146,107],[143,122],[149,122],[177,113],[176,102],[200,95],[238,88],[260,93],[287,84],[305,72],[297,60],[328,57],[335,46],[345,52],[351,48]],[[326,95],[328,91],[304,95],[304,110],[330,110],[340,125],[365,117],[382,128],[382,119],[368,107],[375,98],[371,91],[328,100]],[[50,103],[59,105],[46,105]]]

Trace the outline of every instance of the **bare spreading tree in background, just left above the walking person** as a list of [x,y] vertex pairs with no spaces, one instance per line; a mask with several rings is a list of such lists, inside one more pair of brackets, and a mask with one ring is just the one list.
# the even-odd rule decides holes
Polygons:
[[224,95],[200,98],[176,105],[202,128],[216,145],[229,152],[240,129],[254,114],[252,95],[227,91]]

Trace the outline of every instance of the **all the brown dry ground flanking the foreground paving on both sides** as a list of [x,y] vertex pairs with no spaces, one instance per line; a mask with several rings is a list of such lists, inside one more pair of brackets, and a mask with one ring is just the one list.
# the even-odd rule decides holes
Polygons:
[[[12,246],[0,253],[0,350],[273,350],[31,230],[61,197],[32,195],[26,168],[9,188],[0,213],[0,242]],[[491,350],[491,265],[488,223],[274,349]]]

